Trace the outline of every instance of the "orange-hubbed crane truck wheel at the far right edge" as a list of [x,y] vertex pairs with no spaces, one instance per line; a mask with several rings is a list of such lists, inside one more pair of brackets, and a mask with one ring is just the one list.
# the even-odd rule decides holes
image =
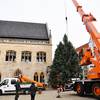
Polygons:
[[92,93],[95,97],[100,98],[100,84],[98,83],[93,84]]

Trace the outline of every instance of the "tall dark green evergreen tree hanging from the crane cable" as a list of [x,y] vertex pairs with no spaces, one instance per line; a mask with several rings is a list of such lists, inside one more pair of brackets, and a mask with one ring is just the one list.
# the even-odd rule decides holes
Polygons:
[[78,55],[72,43],[64,35],[63,43],[60,42],[55,51],[49,83],[52,87],[56,87],[57,84],[64,85],[71,77],[75,77],[78,69]]

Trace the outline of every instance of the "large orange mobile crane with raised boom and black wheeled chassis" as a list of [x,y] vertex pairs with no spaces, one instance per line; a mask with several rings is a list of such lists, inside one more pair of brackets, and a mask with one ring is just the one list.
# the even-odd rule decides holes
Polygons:
[[95,97],[100,98],[100,34],[93,25],[93,21],[96,21],[96,18],[94,18],[91,13],[86,14],[83,11],[82,6],[79,5],[76,0],[72,0],[72,2],[76,7],[77,12],[80,14],[90,38],[95,44],[93,51],[91,48],[88,48],[80,61],[81,66],[92,63],[94,67],[88,71],[87,79],[75,82],[74,90],[77,91],[77,94],[80,96],[92,93]]

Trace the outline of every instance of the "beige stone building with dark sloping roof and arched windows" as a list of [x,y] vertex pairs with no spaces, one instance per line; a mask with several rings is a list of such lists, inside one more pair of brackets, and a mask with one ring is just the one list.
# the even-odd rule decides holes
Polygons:
[[19,73],[47,82],[52,40],[46,24],[0,21],[0,78]]

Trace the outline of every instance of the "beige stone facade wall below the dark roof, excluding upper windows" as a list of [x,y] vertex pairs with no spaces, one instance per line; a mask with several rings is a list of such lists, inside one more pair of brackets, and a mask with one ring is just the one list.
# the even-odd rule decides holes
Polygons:
[[[6,51],[16,51],[16,60],[5,61]],[[31,62],[21,61],[21,52],[30,51],[32,53]],[[46,62],[37,62],[36,54],[39,51],[46,53]],[[46,43],[17,43],[17,42],[0,42],[0,73],[1,78],[14,77],[14,72],[20,69],[23,74],[33,79],[34,73],[37,72],[40,75],[44,73],[45,81],[47,81],[47,66],[52,64],[52,44]]]

